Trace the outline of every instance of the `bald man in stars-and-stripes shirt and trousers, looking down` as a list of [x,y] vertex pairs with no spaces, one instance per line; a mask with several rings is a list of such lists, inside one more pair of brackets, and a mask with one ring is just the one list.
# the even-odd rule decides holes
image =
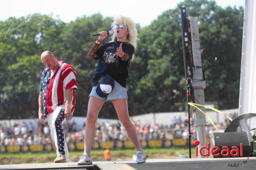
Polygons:
[[51,130],[51,137],[56,146],[55,163],[69,162],[69,151],[62,128],[63,120],[71,120],[75,109],[76,71],[63,61],[58,61],[52,52],[41,54],[41,61],[46,66],[41,75],[38,98],[38,117],[41,124],[45,119]]

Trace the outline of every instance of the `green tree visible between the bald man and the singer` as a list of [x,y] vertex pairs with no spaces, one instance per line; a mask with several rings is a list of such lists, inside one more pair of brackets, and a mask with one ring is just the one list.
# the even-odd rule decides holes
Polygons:
[[[74,115],[84,116],[87,113],[89,94],[92,90],[92,76],[98,61],[87,59],[87,53],[95,42],[92,35],[101,30],[110,30],[112,18],[103,18],[101,14],[83,16],[70,22],[63,29],[60,38],[58,56],[74,65],[77,72],[78,89],[76,91],[76,104]],[[105,41],[109,41],[106,39]],[[114,111],[111,105],[104,106],[104,114],[101,117],[109,117]]]

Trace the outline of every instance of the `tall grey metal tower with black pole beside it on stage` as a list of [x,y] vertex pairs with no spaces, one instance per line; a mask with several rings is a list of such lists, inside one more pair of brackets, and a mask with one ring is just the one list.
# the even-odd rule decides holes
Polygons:
[[[201,48],[198,28],[198,17],[186,17],[185,6],[181,7],[181,25],[183,58],[186,77],[187,102],[196,101],[204,105],[204,89],[206,86],[203,67],[201,61]],[[189,31],[190,30],[190,31]],[[204,108],[202,108],[204,111]],[[195,112],[195,122],[197,125],[197,139],[200,141],[199,147],[206,143],[205,124],[206,118],[201,112]],[[191,135],[190,132],[190,105],[188,105],[188,146],[189,158],[191,158]],[[203,156],[199,156],[203,157]]]

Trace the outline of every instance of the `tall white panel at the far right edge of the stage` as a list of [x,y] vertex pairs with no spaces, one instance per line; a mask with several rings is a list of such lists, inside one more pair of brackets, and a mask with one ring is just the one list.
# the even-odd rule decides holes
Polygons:
[[[256,113],[256,1],[245,0],[239,115]],[[244,131],[256,128],[256,118],[240,122]],[[249,126],[247,126],[249,125]]]

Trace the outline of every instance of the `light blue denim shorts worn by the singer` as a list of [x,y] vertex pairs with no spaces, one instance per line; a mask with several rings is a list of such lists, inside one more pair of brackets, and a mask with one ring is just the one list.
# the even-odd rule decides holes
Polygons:
[[89,96],[93,96],[93,97],[101,99],[103,101],[112,101],[112,100],[117,100],[117,99],[128,99],[126,88],[121,86],[116,81],[115,81],[115,86],[114,86],[112,92],[108,96],[106,96],[106,98],[101,98],[101,96],[99,96],[96,93],[96,88],[97,88],[97,86],[93,86],[93,89],[92,89],[91,93],[89,94]]

